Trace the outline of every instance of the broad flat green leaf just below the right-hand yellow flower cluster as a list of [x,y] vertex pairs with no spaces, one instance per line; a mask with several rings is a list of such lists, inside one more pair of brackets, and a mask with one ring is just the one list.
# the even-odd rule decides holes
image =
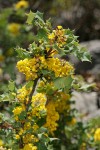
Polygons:
[[57,79],[54,80],[54,85],[57,89],[66,89],[69,90],[71,88],[72,84],[72,77],[58,77]]

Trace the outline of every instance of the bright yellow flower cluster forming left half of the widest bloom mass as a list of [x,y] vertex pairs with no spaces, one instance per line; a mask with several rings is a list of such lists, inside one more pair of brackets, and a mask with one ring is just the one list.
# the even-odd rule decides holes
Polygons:
[[36,58],[26,58],[17,63],[18,70],[26,75],[26,80],[35,80],[37,78],[37,67],[39,67],[39,65],[37,64]]

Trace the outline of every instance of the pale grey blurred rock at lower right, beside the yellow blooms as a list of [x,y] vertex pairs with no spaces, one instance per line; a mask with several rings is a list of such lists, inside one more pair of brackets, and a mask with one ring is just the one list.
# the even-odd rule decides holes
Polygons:
[[79,93],[74,91],[72,100],[75,100],[74,107],[81,113],[83,116],[89,115],[97,111],[97,93]]

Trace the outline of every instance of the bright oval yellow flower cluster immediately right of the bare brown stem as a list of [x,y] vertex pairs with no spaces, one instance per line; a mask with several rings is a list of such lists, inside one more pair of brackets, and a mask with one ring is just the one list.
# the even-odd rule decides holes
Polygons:
[[37,93],[32,96],[32,115],[41,117],[41,112],[46,112],[46,97],[43,93]]

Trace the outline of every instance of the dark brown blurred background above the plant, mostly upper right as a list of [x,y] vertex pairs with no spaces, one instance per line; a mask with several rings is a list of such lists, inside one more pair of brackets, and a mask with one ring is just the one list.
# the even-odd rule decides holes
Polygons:
[[[53,25],[63,25],[75,30],[80,41],[100,38],[100,0],[27,0],[28,10],[42,11],[51,17]],[[18,0],[0,1],[0,9],[12,7]],[[15,12],[13,11],[13,15]],[[20,22],[10,16],[9,21]],[[23,20],[25,21],[25,20]]]

